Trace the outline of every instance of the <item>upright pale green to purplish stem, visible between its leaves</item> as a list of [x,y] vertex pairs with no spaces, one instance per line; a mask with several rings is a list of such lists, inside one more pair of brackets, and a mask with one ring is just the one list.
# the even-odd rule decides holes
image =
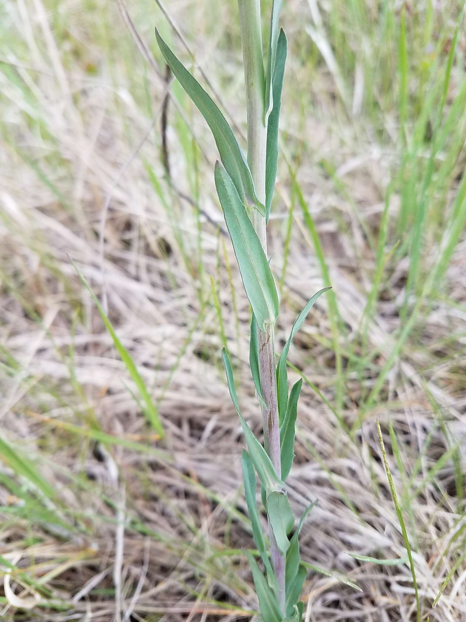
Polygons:
[[[262,54],[262,31],[260,24],[260,0],[238,0],[241,28],[244,80],[247,106],[247,161],[254,181],[257,198],[265,203],[265,157],[267,149],[267,128],[265,114],[265,76]],[[253,210],[251,220],[264,253],[267,256],[267,234],[265,217]],[[262,394],[267,407],[262,407],[265,448],[277,475],[281,476],[280,428],[278,425],[278,402],[275,376],[275,335],[273,326],[265,333],[257,330],[259,346],[259,371]],[[275,578],[278,582],[278,600],[285,613],[285,557],[275,542],[270,529],[270,549]]]

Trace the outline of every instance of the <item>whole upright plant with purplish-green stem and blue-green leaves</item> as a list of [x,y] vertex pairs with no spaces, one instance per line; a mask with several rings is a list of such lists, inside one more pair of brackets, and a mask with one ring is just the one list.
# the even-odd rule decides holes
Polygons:
[[[242,456],[245,496],[263,570],[250,552],[247,558],[262,620],[299,622],[304,606],[299,596],[307,574],[306,565],[299,558],[299,532],[314,504],[304,511],[291,536],[295,517],[285,482],[295,457],[295,425],[302,381],[299,380],[289,394],[286,357],[311,307],[330,288],[321,289],[304,306],[276,363],[274,325],[279,311],[278,294],[267,256],[266,226],[278,161],[278,123],[287,41],[285,32],[278,27],[281,0],[274,0],[272,6],[267,58],[263,58],[262,53],[260,0],[238,0],[238,5],[247,104],[247,157],[218,106],[183,67],[157,29],[155,36],[167,65],[214,135],[220,156],[214,171],[217,194],[252,307],[249,361],[262,409],[265,447],[242,417],[225,348],[222,359],[247,445]],[[267,511],[268,538],[262,531],[257,509],[257,479]]]

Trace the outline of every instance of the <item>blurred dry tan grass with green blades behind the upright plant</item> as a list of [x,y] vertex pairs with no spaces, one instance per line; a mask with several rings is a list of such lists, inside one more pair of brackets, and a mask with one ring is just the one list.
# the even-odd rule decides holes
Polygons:
[[[429,2],[407,12],[408,146],[399,127],[399,29],[380,34],[385,22],[375,0],[335,11],[327,4],[290,0],[283,10],[291,41],[286,159],[270,245],[279,279],[285,264],[279,340],[322,285],[325,268],[334,287],[337,306],[319,299],[291,348],[291,363],[319,392],[304,383],[289,495],[298,513],[319,499],[303,529],[303,559],[362,591],[309,572],[305,620],[416,618],[408,564],[375,565],[346,554],[406,556],[378,417],[414,550],[423,620],[459,622],[466,616],[466,239],[465,202],[456,200],[465,119],[455,101],[461,103],[465,85],[464,30],[418,243],[411,212],[404,223],[401,212],[406,187],[405,205],[420,203],[431,144],[424,135],[416,142],[414,129],[436,62],[434,87],[442,84],[460,3],[434,3],[427,42]],[[146,59],[122,5],[119,11],[106,0],[6,0],[1,9],[0,564],[23,604],[32,592],[39,599],[21,609],[4,593],[4,620],[208,622],[249,620],[257,608],[239,550],[252,546],[240,487],[243,439],[221,369],[209,275],[238,367],[242,409],[257,430],[260,419],[245,364],[247,299],[216,224],[216,153],[201,117],[172,85],[168,182],[161,135],[167,85],[152,29],[157,22],[165,34],[172,31],[155,4],[127,8]],[[244,132],[235,11],[233,0],[168,6],[221,91],[227,116]],[[396,26],[399,12],[386,11]],[[362,17],[359,33],[354,20]],[[436,52],[424,45],[442,37]],[[188,59],[180,40],[172,42]],[[427,109],[426,128],[435,126],[439,100]],[[445,272],[437,274],[450,242]],[[126,368],[70,258],[137,363],[165,440],[133,399]],[[383,271],[373,289],[377,267]],[[296,371],[290,376],[298,378]]]

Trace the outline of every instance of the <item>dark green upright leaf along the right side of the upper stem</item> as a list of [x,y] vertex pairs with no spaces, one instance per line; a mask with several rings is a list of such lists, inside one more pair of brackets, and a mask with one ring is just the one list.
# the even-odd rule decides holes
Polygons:
[[280,122],[281,90],[286,62],[286,35],[280,30],[276,46],[275,71],[272,78],[273,108],[267,123],[267,152],[265,156],[265,219],[270,216],[273,190],[275,188],[276,168],[278,163],[278,125]]

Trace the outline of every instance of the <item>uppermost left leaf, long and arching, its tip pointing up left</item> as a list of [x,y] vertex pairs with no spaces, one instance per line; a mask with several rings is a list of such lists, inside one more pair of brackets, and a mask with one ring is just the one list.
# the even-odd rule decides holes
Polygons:
[[249,207],[257,208],[265,216],[265,207],[255,194],[249,166],[226,118],[212,98],[199,85],[196,78],[176,58],[175,54],[173,54],[162,37],[160,37],[160,34],[158,34],[157,28],[155,29],[155,37],[168,67],[170,67],[173,75],[178,79],[191,100],[193,100],[194,105],[199,109],[204,119],[206,119],[214,135],[220,158],[233,180],[239,196],[242,198],[242,203],[246,202]]

